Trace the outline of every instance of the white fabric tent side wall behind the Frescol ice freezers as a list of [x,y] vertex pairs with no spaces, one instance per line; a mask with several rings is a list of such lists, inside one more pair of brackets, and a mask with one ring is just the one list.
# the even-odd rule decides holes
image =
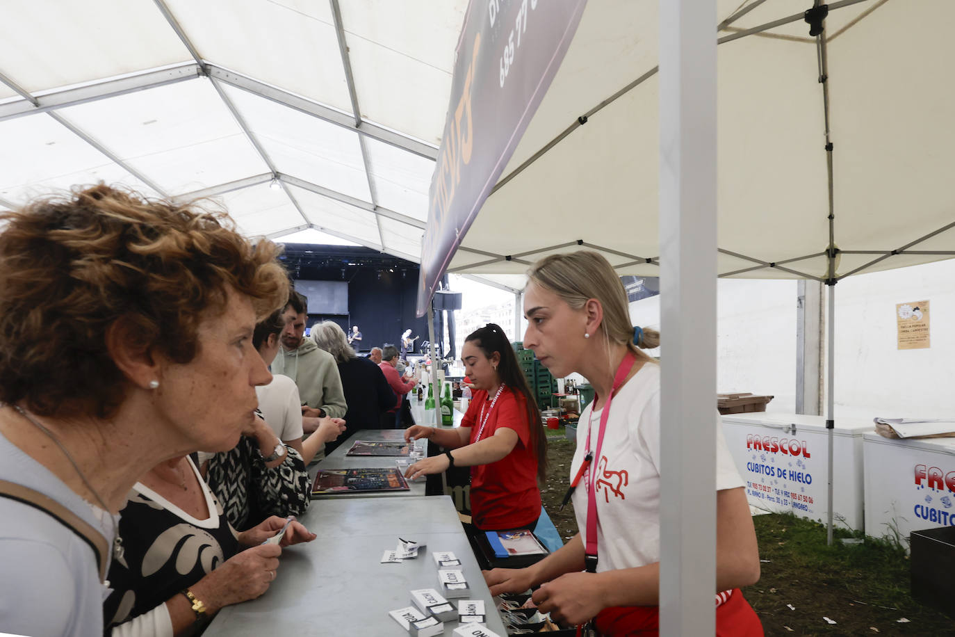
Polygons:
[[[796,283],[721,279],[717,292],[717,391],[772,394],[769,411],[793,413]],[[836,294],[837,419],[955,416],[955,260],[850,277]],[[899,350],[896,304],[926,299],[931,347]],[[660,297],[630,316],[659,328]]]

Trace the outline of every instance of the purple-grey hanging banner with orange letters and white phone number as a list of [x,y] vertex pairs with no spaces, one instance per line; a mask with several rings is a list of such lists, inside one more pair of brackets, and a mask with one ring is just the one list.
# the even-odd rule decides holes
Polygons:
[[577,31],[586,0],[471,0],[431,181],[417,315],[514,154]]

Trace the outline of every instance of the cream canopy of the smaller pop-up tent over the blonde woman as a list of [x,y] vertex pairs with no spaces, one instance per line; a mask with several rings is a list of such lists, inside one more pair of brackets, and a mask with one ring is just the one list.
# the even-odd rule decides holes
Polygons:
[[[947,183],[955,127],[946,116],[955,92],[944,79],[955,56],[955,5],[831,4],[828,122],[816,38],[802,19],[812,2],[717,5],[726,18],[717,48],[721,276],[826,277],[827,124],[837,276],[955,221]],[[790,21],[766,28],[780,18]],[[499,256],[461,251],[451,271],[519,272],[583,241],[622,274],[659,273],[657,23],[655,1],[588,3],[560,72],[462,243]],[[950,230],[866,271],[953,249]]]

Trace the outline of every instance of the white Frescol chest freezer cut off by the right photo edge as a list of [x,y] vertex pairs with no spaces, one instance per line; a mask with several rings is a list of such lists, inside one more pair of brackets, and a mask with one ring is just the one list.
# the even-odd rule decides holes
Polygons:
[[866,434],[865,534],[907,546],[912,531],[955,526],[955,438]]

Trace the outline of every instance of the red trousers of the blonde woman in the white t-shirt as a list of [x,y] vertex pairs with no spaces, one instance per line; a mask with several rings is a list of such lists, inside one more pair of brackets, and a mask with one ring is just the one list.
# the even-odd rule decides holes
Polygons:
[[[602,635],[656,635],[660,629],[657,606],[615,606],[605,608],[596,617]],[[716,608],[716,637],[763,637],[753,606],[738,588],[730,599]]]

